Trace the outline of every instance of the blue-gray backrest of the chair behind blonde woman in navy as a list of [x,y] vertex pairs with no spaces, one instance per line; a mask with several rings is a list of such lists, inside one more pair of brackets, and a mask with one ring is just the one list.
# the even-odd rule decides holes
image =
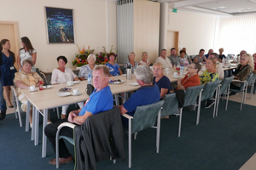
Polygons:
[[163,105],[163,109],[161,110],[161,117],[175,114],[178,108],[176,94],[166,94],[163,100],[165,103]]

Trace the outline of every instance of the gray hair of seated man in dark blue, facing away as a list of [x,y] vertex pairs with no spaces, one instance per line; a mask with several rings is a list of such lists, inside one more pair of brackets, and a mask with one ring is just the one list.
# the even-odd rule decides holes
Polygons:
[[153,71],[148,65],[138,65],[134,70],[137,80],[143,81],[145,84],[153,82]]

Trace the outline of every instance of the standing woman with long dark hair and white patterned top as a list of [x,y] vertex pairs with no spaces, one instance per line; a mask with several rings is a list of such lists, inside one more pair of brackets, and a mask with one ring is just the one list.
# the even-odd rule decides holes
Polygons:
[[32,59],[34,65],[32,66],[33,72],[36,72],[35,64],[37,61],[37,51],[32,47],[32,43],[28,37],[21,37],[21,45],[23,48],[20,48],[19,54],[17,56],[17,64],[19,70],[22,71],[22,62],[24,59]]

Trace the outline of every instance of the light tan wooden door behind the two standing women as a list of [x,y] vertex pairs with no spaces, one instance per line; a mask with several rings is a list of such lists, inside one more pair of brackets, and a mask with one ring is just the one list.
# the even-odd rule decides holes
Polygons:
[[10,50],[15,53],[15,67],[18,71],[17,54],[20,49],[20,36],[17,22],[0,21],[0,41],[2,39],[9,39],[11,44]]

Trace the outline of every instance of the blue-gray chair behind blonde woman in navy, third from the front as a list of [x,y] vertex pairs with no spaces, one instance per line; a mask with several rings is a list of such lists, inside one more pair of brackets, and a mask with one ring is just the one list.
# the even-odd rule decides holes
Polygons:
[[161,110],[161,117],[176,115],[179,116],[179,126],[178,126],[178,134],[180,137],[181,133],[181,124],[182,124],[182,113],[178,111],[178,102],[176,98],[176,94],[166,94],[163,98],[165,101],[163,105],[163,109]]

